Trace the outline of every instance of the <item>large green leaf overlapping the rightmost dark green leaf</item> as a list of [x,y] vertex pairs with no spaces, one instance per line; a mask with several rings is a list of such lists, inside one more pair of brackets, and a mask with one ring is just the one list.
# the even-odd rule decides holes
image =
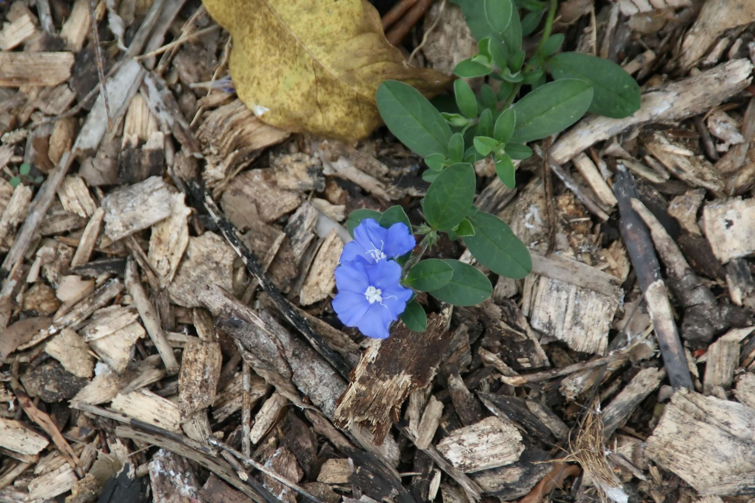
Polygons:
[[525,143],[559,133],[578,121],[592,100],[593,87],[576,78],[538,87],[513,106],[516,129],[511,141]]

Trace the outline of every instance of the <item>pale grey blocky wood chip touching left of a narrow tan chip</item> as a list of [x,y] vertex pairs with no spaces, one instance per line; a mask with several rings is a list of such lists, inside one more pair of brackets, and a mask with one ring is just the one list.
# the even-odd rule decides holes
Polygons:
[[105,234],[118,241],[171,216],[175,189],[160,176],[110,192],[102,200]]

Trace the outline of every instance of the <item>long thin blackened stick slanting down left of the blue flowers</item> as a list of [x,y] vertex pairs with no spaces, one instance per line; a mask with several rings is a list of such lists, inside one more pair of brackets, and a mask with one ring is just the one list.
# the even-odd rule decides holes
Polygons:
[[257,279],[260,286],[265,290],[267,295],[270,296],[270,299],[281,311],[283,316],[285,316],[286,319],[291,322],[297,330],[299,330],[319,354],[322,354],[322,357],[331,364],[337,373],[341,374],[341,376],[348,381],[349,372],[351,370],[350,367],[340,354],[333,351],[330,346],[322,340],[322,336],[320,336],[319,333],[312,330],[312,327],[310,327],[310,324],[304,319],[304,317],[301,317],[300,314],[291,309],[291,306],[288,305],[288,301],[283,298],[278,287],[276,287],[273,282],[270,281],[270,278],[267,278],[267,275],[265,275],[257,256],[255,256],[254,253],[252,253],[251,250],[249,250],[239,239],[239,233],[236,232],[236,228],[234,228],[226,219],[223,219],[220,209],[210,195],[205,192],[205,188],[196,179],[186,180],[186,187],[189,189],[195,204],[198,204],[207,210],[211,219],[223,234],[223,238],[226,238],[228,244],[230,244],[233,250],[239,254],[247,271],[249,271],[249,274]]

